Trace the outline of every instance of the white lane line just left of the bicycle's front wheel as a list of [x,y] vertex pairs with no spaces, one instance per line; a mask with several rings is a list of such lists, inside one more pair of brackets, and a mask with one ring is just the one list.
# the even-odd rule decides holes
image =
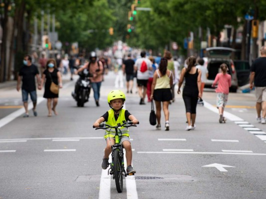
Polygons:
[[[112,161],[112,155],[109,155],[109,162]],[[110,166],[106,169],[102,169],[101,181],[100,181],[100,190],[99,190],[99,199],[110,199],[110,190],[111,190],[111,177],[108,176],[108,170]]]

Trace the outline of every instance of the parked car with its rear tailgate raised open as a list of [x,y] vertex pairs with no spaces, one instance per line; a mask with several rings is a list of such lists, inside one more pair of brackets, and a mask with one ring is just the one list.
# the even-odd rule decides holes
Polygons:
[[232,76],[230,92],[236,93],[238,90],[237,71],[234,62],[231,59],[232,52],[235,52],[236,50],[226,47],[211,47],[207,48],[206,51],[208,57],[207,68],[209,71],[209,77],[207,82],[205,82],[205,88],[212,87],[217,73],[220,72],[220,65],[225,63],[228,66],[228,74]]

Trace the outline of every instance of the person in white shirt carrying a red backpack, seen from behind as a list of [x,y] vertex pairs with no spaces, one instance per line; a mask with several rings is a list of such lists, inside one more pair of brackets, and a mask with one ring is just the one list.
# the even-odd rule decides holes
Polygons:
[[137,71],[137,84],[140,96],[139,104],[145,104],[145,97],[147,93],[147,83],[149,79],[149,70],[152,70],[152,63],[146,58],[146,52],[140,53],[141,58],[136,60],[135,71]]

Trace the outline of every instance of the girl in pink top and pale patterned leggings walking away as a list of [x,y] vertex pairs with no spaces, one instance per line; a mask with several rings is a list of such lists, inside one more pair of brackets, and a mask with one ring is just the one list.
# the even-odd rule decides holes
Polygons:
[[221,64],[221,72],[215,77],[212,87],[215,87],[218,83],[218,87],[215,90],[217,93],[217,108],[219,109],[219,122],[222,123],[225,118],[223,116],[224,109],[228,100],[229,87],[231,87],[231,75],[227,74],[228,67],[226,64]]

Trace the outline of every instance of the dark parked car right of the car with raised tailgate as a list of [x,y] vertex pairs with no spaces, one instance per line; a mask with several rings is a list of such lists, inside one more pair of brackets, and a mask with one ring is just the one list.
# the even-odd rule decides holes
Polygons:
[[238,76],[238,85],[240,87],[250,82],[250,63],[247,60],[234,60]]

